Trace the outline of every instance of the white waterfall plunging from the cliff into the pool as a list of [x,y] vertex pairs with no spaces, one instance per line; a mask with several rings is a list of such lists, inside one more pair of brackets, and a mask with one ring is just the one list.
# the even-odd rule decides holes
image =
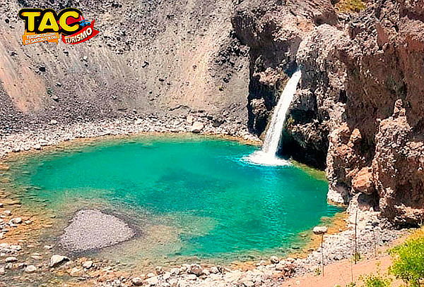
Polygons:
[[266,130],[264,145],[261,150],[247,157],[248,161],[254,164],[269,166],[288,164],[288,161],[278,158],[276,153],[278,151],[278,145],[280,144],[281,134],[283,133],[285,117],[287,116],[288,108],[295,95],[301,75],[302,73],[298,70],[292,75],[290,80],[288,80],[280,99],[278,99],[277,106],[273,111],[271,123],[269,123],[269,128]]

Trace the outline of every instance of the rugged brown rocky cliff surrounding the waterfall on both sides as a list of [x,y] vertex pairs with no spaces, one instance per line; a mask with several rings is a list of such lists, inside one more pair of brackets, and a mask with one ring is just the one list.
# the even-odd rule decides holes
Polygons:
[[276,1],[232,18],[250,47],[251,130],[264,132],[300,67],[282,153],[326,168],[330,200],[381,209],[401,225],[423,220],[423,6],[369,1],[342,14],[330,1]]

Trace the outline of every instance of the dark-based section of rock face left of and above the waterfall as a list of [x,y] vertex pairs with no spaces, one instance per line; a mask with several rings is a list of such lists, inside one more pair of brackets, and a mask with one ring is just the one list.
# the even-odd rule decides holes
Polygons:
[[[273,106],[285,85],[287,74],[295,68],[302,37],[315,25],[336,23],[330,1],[243,1],[232,17],[240,41],[249,46],[249,128],[264,132]],[[261,99],[260,111],[254,106]],[[264,109],[265,108],[265,109]]]

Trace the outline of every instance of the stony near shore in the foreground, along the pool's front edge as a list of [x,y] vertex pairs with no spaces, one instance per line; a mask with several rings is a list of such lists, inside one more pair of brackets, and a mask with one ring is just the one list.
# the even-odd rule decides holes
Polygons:
[[[243,268],[213,266],[211,264],[182,264],[179,267],[155,267],[155,271],[139,274],[122,271],[119,259],[111,262],[106,259],[85,257],[69,258],[55,254],[51,245],[40,246],[42,251],[32,252],[34,246],[26,240],[13,241],[8,238],[9,231],[19,230],[33,224],[28,216],[19,215],[20,206],[12,210],[6,204],[1,208],[1,231],[4,234],[0,244],[0,286],[31,286],[31,282],[43,282],[56,278],[64,282],[83,282],[84,286],[129,287],[129,286],[276,286],[288,278],[307,272],[319,272],[322,269],[322,251],[324,264],[331,264],[353,257],[355,243],[355,216],[357,222],[358,257],[361,259],[379,257],[382,247],[407,233],[389,228],[387,222],[379,219],[377,212],[358,212],[345,219],[348,229],[340,233],[324,235],[323,248],[310,249],[309,255],[293,255],[288,258],[272,256],[269,260],[255,262]],[[5,240],[6,239],[6,240]],[[6,243],[6,241],[8,243]],[[19,275],[19,276],[17,276]],[[47,280],[48,281],[48,280]],[[22,285],[20,285],[22,284]],[[27,284],[27,285],[25,285]],[[34,286],[50,286],[45,285]],[[70,285],[73,286],[73,285]]]

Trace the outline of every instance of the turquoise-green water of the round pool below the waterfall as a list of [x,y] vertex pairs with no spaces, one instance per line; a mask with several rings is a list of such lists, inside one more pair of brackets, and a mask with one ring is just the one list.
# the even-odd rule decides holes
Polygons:
[[[167,257],[237,259],[288,248],[298,233],[341,210],[326,203],[326,181],[295,166],[242,160],[255,150],[201,137],[99,142],[28,157],[16,182],[27,187],[24,203],[42,202],[56,214],[99,202],[139,214],[147,221],[141,236],[150,236],[145,250],[151,244]],[[149,234],[155,232],[166,234],[158,236],[160,248]]]

